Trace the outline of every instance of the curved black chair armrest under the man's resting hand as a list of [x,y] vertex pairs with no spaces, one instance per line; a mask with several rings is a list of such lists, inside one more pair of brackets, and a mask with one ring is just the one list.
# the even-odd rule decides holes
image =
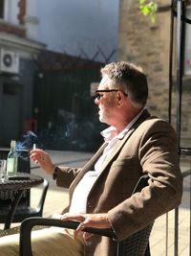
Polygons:
[[[20,227],[20,256],[32,256],[32,242],[31,234],[32,228],[36,225],[43,226],[58,226],[70,229],[76,229],[79,225],[79,221],[62,221],[51,218],[32,217],[25,221],[22,221]],[[94,227],[85,227],[83,231],[93,233],[99,236],[105,236],[113,239],[117,239],[112,229],[99,229]]]

